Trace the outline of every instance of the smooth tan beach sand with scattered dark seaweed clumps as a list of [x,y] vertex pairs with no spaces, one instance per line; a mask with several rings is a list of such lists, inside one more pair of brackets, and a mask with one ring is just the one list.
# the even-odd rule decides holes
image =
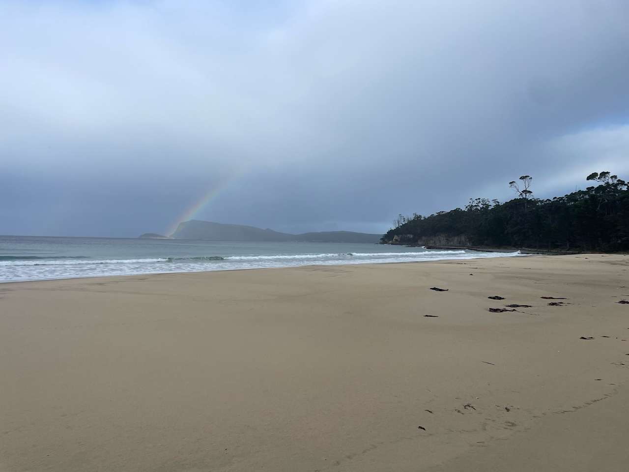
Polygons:
[[594,254],[0,284],[0,471],[624,472],[623,298]]

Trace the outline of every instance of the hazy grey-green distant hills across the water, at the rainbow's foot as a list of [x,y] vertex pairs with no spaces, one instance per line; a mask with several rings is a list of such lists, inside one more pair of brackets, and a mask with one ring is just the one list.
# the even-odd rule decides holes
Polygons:
[[213,241],[250,241],[250,242],[353,242],[374,243],[382,235],[355,233],[352,231],[323,231],[303,234],[281,233],[269,228],[262,229],[246,225],[189,220],[179,223],[172,235],[173,239],[202,239]]

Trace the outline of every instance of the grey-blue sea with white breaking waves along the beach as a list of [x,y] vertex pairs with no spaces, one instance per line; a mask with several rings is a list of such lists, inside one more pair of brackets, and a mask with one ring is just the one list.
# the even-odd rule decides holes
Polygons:
[[0,282],[518,256],[380,244],[0,236]]

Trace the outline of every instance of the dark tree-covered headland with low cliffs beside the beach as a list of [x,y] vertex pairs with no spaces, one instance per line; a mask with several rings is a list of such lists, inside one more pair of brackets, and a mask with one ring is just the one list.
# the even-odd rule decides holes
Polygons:
[[611,172],[593,185],[552,199],[535,198],[533,178],[509,183],[516,198],[470,199],[465,208],[430,216],[399,215],[383,244],[516,247],[559,251],[629,250],[629,188]]

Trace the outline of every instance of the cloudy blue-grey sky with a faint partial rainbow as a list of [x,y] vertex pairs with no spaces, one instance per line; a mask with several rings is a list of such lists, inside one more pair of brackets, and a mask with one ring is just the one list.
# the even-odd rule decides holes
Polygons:
[[629,179],[626,0],[0,0],[0,234],[383,233]]

